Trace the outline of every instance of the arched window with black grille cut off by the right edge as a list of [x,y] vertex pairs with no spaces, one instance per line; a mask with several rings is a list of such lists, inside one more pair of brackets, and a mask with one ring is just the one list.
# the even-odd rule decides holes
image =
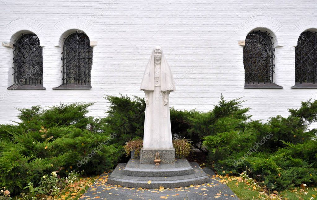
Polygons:
[[293,88],[317,88],[317,35],[301,33],[295,47],[295,85]]

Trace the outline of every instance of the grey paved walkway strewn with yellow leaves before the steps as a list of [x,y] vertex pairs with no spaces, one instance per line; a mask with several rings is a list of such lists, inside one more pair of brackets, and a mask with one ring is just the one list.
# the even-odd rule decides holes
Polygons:
[[107,200],[239,200],[238,197],[219,178],[213,177],[215,173],[204,168],[209,183],[191,185],[191,187],[172,189],[142,189],[125,188],[107,184],[108,173],[103,173],[80,199],[107,199]]

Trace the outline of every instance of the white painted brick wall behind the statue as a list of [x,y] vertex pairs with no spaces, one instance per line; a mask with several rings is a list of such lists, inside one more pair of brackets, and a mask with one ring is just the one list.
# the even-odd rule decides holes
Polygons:
[[[220,93],[243,97],[253,119],[288,115],[301,101],[317,98],[317,89],[291,89],[294,51],[301,32],[317,30],[316,1],[37,1],[0,2],[0,41],[14,42],[34,32],[43,46],[46,90],[14,90],[12,50],[0,46],[0,123],[11,123],[15,107],[96,102],[92,116],[107,109],[105,95],[136,94],[155,45],[163,47],[177,91],[176,109],[210,110]],[[275,41],[275,82],[283,89],[244,89],[243,47],[251,30],[268,30]],[[52,90],[61,84],[63,38],[82,30],[93,47],[91,90]]]

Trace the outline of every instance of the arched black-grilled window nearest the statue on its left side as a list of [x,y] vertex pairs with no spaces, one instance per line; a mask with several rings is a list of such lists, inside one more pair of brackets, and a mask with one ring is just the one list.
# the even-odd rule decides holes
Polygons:
[[73,33],[65,39],[62,52],[62,85],[54,89],[90,89],[93,48],[85,33]]

